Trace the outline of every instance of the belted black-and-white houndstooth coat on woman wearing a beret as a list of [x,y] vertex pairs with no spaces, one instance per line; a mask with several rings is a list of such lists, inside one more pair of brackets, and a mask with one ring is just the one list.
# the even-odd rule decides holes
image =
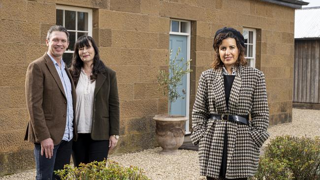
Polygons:
[[[249,115],[250,125],[210,120],[210,114]],[[259,148],[268,139],[269,108],[264,75],[261,71],[239,66],[233,81],[229,110],[226,109],[222,68],[202,72],[192,111],[191,140],[199,145],[200,174],[218,178],[227,126],[227,179],[254,176]]]

